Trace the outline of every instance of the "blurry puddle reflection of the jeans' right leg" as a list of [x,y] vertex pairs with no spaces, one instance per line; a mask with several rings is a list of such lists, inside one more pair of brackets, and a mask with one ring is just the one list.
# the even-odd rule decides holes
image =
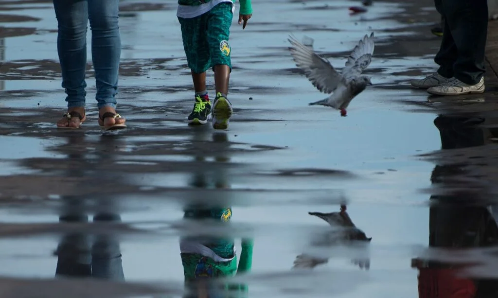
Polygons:
[[[97,214],[95,222],[121,221],[116,214]],[[100,235],[92,247],[92,275],[95,278],[124,281],[123,263],[119,242],[112,236]]]

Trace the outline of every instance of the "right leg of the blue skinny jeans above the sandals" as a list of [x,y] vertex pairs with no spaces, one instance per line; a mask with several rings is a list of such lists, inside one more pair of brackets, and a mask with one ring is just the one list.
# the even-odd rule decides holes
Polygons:
[[116,108],[121,58],[119,0],[88,0],[98,107]]

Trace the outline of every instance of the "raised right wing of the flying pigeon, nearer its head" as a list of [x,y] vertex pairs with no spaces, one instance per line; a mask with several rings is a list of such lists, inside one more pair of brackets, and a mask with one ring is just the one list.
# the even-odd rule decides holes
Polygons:
[[373,32],[370,36],[365,35],[365,37],[360,40],[353,49],[353,52],[351,52],[351,55],[349,55],[348,61],[346,61],[346,67],[342,69],[341,74],[346,80],[360,76],[370,65],[374,47]]

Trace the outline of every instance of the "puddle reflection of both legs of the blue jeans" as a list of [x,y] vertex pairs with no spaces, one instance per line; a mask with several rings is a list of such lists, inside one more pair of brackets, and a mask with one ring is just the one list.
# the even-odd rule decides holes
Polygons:
[[[94,221],[120,221],[119,215],[97,214]],[[60,221],[86,222],[87,216],[61,216]],[[97,236],[90,245],[89,237],[82,234],[65,235],[57,249],[56,276],[93,277],[124,281],[119,243],[108,235]]]

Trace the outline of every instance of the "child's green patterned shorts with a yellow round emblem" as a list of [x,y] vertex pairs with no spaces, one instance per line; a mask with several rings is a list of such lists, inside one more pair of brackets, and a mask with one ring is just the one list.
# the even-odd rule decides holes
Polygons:
[[232,5],[230,2],[221,2],[199,16],[178,17],[188,67],[194,73],[203,73],[219,64],[228,65],[232,70],[231,47],[228,43],[234,16]]

